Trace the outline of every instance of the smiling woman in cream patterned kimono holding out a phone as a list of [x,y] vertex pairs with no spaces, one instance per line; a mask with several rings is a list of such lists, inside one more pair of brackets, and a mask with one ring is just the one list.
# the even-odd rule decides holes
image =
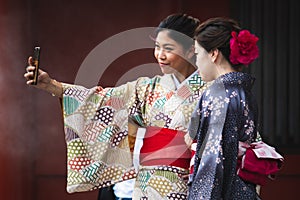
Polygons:
[[[86,89],[55,81],[40,70],[36,87],[62,98],[69,192],[136,177],[133,199],[187,198],[184,177],[191,155],[183,136],[204,89],[194,66],[192,38],[198,25],[185,14],[159,24],[154,56],[163,76]],[[28,66],[24,75],[29,85],[33,70]],[[137,175],[131,156],[136,127],[146,128]]]

